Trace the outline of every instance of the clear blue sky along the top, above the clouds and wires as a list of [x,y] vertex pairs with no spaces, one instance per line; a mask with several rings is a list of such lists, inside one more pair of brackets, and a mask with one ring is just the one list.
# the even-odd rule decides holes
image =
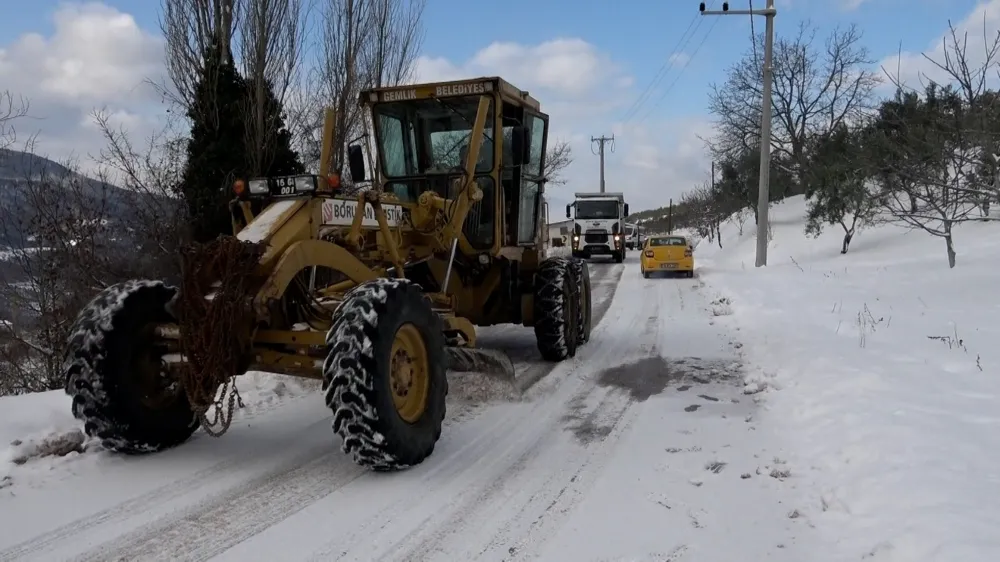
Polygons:
[[[709,0],[710,2],[711,0]],[[33,31],[48,35],[53,31],[51,14],[61,2],[36,0],[20,3],[17,10],[6,11],[0,19],[0,45],[18,35]],[[157,28],[159,2],[151,0],[108,0],[104,4],[132,14],[140,26]],[[821,32],[838,24],[859,23],[865,42],[877,59],[904,50],[922,50],[938,37],[947,19],[960,19],[975,6],[973,0],[868,0],[855,10],[843,8],[843,0],[778,0],[776,25],[790,28],[809,18]],[[763,7],[758,0],[755,8]],[[571,7],[571,8],[570,8]],[[746,8],[747,1],[730,3],[733,9]],[[716,9],[721,8],[721,1]],[[644,88],[654,78],[660,65],[670,56],[692,17],[698,2],[689,0],[510,0],[505,7],[467,0],[428,0],[425,12],[427,29],[424,54],[463,61],[494,41],[537,44],[556,37],[580,37],[624,64]],[[507,25],[505,13],[518,14]],[[711,36],[702,44],[696,58],[657,106],[663,117],[704,111],[706,85],[719,81],[725,67],[749,45],[749,22],[745,17],[726,16],[713,22],[703,17],[697,34],[684,45],[690,53],[711,24]],[[493,21],[490,25],[477,22]],[[473,22],[469,25],[467,22]],[[695,22],[698,25],[698,22]],[[755,22],[762,29],[763,18]],[[661,84],[673,82],[678,70],[671,68]],[[643,114],[660,95],[652,96]],[[669,103],[667,103],[669,102]]]

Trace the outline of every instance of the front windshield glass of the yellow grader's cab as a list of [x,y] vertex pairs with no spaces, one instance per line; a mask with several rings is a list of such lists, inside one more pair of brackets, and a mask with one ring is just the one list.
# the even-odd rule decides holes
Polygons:
[[[486,117],[477,172],[493,169],[493,102]],[[375,133],[387,178],[455,173],[476,121],[479,96],[404,100],[375,106]]]

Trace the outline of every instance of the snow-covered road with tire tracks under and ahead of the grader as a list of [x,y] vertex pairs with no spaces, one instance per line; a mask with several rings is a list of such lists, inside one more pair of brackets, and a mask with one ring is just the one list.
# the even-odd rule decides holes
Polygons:
[[293,398],[222,439],[0,490],[0,560],[813,558],[703,284],[642,279],[634,257],[591,269],[591,342],[552,368],[526,364],[530,329],[484,330],[540,380],[459,391],[420,466],[356,467],[322,400]]

